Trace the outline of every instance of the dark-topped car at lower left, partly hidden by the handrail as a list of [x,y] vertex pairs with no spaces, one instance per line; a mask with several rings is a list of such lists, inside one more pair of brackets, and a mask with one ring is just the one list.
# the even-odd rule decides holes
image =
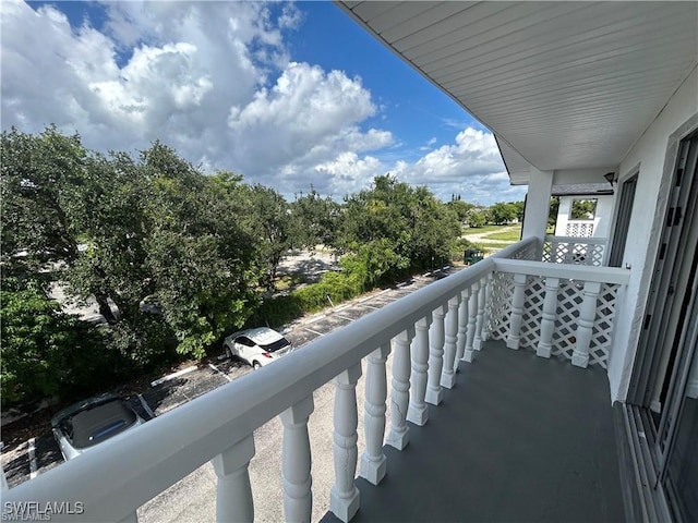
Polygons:
[[143,423],[123,398],[106,393],[59,411],[51,418],[51,429],[68,461]]

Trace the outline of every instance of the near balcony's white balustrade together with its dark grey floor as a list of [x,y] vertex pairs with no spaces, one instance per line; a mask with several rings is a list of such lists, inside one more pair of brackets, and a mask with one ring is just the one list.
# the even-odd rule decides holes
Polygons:
[[[507,247],[4,491],[3,510],[80,502],[82,514],[51,521],[136,521],[139,507],[210,461],[216,519],[252,521],[267,488],[250,481],[253,433],[279,416],[287,521],[318,519],[312,471],[329,460],[325,521],[622,520],[604,368],[629,271],[532,262],[566,260],[550,253],[571,239],[546,240]],[[330,381],[332,451],[313,455],[313,393]]]

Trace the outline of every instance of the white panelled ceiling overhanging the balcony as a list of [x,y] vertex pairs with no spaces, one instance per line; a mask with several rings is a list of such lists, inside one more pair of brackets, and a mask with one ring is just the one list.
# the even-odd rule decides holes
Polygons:
[[495,133],[514,183],[613,170],[698,63],[695,1],[338,4]]

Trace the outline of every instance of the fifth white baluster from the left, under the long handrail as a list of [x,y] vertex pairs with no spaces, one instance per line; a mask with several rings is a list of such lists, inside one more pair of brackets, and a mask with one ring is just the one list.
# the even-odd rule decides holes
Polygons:
[[393,392],[390,393],[390,430],[385,442],[397,450],[407,447],[410,440],[407,426],[407,409],[410,402],[410,342],[414,327],[410,327],[393,339]]

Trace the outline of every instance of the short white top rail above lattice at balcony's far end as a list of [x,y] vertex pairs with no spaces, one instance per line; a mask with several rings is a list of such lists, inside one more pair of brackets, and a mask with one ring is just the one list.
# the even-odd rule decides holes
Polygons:
[[617,283],[625,285],[630,278],[628,269],[617,267],[597,267],[590,265],[547,264],[526,259],[496,259],[495,270],[501,272],[524,273],[568,280]]

